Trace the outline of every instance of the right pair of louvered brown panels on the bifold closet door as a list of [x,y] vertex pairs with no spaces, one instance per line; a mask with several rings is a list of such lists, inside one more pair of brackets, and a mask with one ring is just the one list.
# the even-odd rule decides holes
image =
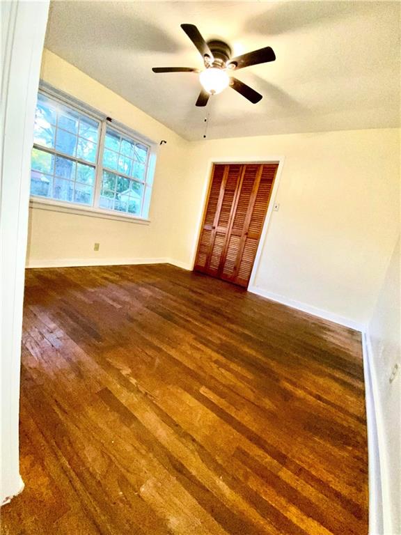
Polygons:
[[278,164],[247,164],[235,201],[221,278],[248,286]]

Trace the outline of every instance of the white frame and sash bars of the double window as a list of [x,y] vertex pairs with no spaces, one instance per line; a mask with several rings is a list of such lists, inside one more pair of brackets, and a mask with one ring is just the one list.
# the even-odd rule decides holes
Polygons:
[[[77,215],[86,215],[92,217],[102,217],[103,219],[116,219],[116,220],[125,220],[132,223],[139,224],[149,224],[150,219],[148,219],[149,209],[150,209],[150,200],[152,194],[152,185],[153,178],[155,175],[155,164],[157,157],[157,144],[146,137],[143,137],[138,132],[134,132],[129,127],[118,123],[118,121],[110,120],[105,114],[98,111],[97,109],[92,108],[88,104],[81,102],[66,93],[56,90],[49,84],[45,82],[40,82],[39,93],[45,95],[46,97],[64,104],[74,111],[77,111],[81,114],[88,116],[88,118],[94,119],[100,123],[99,129],[99,138],[97,141],[97,150],[96,150],[96,160],[93,164],[90,162],[84,162],[86,165],[90,164],[95,167],[95,187],[93,189],[93,203],[92,205],[84,205],[81,203],[74,203],[70,201],[59,201],[58,199],[49,199],[45,196],[32,195],[30,198],[31,208],[37,208],[40,210],[51,210],[56,212],[72,213]],[[103,166],[103,151],[104,151],[104,139],[106,136],[106,130],[109,127],[111,130],[114,130],[123,137],[139,143],[143,146],[146,146],[148,149],[147,161],[146,161],[146,172],[145,180],[135,180],[132,177],[125,176],[125,173],[120,173],[116,170],[109,169]],[[38,144],[33,144],[33,148],[38,150],[43,150],[47,153],[58,154],[59,151],[54,150],[54,148],[42,147]],[[62,156],[62,153],[59,153]],[[79,162],[80,159],[77,157],[71,157],[70,155],[65,155],[69,159]],[[141,211],[139,214],[129,214],[129,212],[119,212],[118,210],[108,210],[107,208],[101,208],[99,206],[100,202],[100,191],[102,189],[102,175],[103,170],[114,173],[117,176],[123,176],[129,180],[135,180],[138,183],[143,184],[143,196],[141,202]]]

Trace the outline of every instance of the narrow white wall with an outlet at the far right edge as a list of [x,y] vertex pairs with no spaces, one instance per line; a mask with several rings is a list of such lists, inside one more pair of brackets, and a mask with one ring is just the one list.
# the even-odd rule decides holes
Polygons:
[[[386,278],[368,327],[385,534],[401,534],[401,348],[400,239],[395,245]],[[394,365],[398,373],[389,382]],[[373,534],[372,534],[373,535]]]

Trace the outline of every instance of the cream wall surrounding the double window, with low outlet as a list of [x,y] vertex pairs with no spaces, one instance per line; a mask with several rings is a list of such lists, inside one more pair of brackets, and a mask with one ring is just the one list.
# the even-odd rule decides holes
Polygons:
[[[184,160],[187,141],[48,50],[42,58],[41,79],[157,144],[161,139],[167,144],[159,147],[157,155],[149,225],[31,209],[27,265],[113,264],[168,257],[175,181],[182,180],[186,171],[178,162]],[[98,252],[93,251],[95,242],[100,243]]]

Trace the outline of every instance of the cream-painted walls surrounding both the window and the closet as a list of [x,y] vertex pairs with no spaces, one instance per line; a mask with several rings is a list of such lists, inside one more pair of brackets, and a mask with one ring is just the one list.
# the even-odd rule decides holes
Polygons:
[[255,290],[348,325],[367,323],[398,232],[398,130],[188,142],[49,51],[42,79],[168,143],[159,148],[150,225],[33,209],[28,265],[170,258],[191,269],[210,162],[281,157],[280,209]]

